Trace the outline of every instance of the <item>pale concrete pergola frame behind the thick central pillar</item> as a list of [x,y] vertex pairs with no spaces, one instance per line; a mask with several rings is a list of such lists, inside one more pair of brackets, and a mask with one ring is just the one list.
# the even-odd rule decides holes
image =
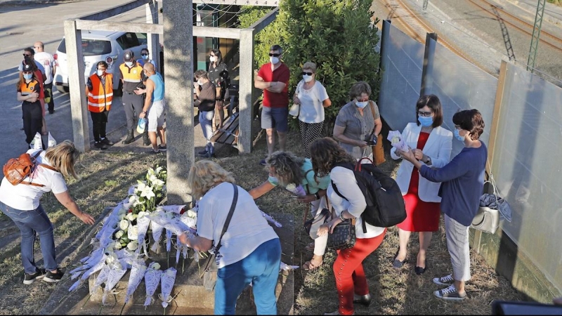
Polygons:
[[[75,20],[65,21],[65,38],[67,43],[67,58],[69,82],[72,86],[84,87],[84,63],[79,62],[83,60],[81,51],[81,30],[100,30],[111,32],[143,32],[148,36],[148,49],[151,55],[159,55],[159,34],[164,34],[164,25],[158,22],[158,2],[154,0],[134,0],[114,8],[99,11],[89,15],[84,15]],[[256,21],[250,27],[245,29],[234,29],[226,27],[192,27],[193,37],[219,37],[224,39],[239,39],[240,40],[240,82],[239,82],[239,110],[240,110],[240,124],[239,124],[239,141],[237,149],[240,153],[251,152],[251,136],[254,135],[252,131],[251,121],[252,105],[254,101],[259,98],[258,93],[254,93],[254,37],[263,28],[269,25],[279,13],[277,7],[278,1],[266,0],[193,0],[184,3],[184,6],[191,7],[191,4],[233,4],[233,5],[246,5],[246,6],[271,6],[272,10],[260,20]],[[146,23],[131,23],[131,22],[112,22],[103,21],[104,19],[112,16],[131,11],[140,6],[146,8]],[[192,20],[192,19],[189,19]],[[191,37],[192,39],[192,37]],[[191,43],[192,47],[192,43]],[[166,49],[166,41],[164,41],[164,59],[166,54],[174,54]],[[72,62],[73,61],[73,62]],[[159,58],[157,58],[159,62]],[[168,74],[166,72],[165,74]],[[166,76],[166,86],[176,86],[171,84],[170,81],[180,81],[185,86],[185,94],[192,95],[192,76],[184,76],[177,78],[173,76]],[[166,99],[169,98],[168,89],[166,89]],[[89,115],[86,103],[86,92],[84,88],[71,88],[70,89],[70,103],[72,110],[72,131],[74,133],[74,144],[82,152],[90,149],[89,138]],[[192,100],[190,102],[190,112],[192,112]],[[188,110],[189,111],[189,110]],[[193,135],[193,124],[188,124],[188,133]],[[170,139],[172,140],[172,139]],[[170,147],[174,147],[172,143]],[[192,151],[185,152],[185,154],[193,155]],[[192,159],[195,162],[195,157]]]

